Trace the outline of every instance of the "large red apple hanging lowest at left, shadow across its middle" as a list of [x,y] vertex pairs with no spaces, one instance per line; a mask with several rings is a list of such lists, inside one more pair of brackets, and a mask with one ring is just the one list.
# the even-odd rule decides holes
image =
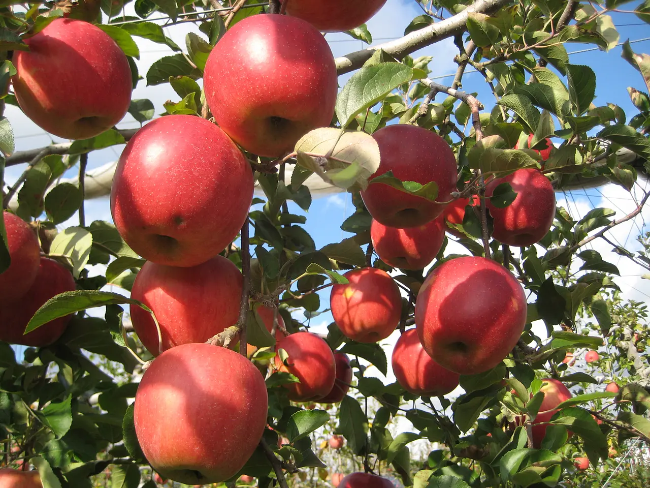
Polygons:
[[135,433],[164,478],[187,485],[234,476],[259,444],[268,396],[263,376],[242,355],[210,344],[164,351],[135,395]]

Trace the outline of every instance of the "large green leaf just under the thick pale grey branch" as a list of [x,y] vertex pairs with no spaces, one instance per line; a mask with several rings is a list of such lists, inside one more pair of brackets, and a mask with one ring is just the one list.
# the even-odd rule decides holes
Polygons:
[[384,62],[363,66],[344,85],[336,100],[336,115],[342,128],[346,128],[354,116],[372,107],[395,88],[426,74],[398,62]]

